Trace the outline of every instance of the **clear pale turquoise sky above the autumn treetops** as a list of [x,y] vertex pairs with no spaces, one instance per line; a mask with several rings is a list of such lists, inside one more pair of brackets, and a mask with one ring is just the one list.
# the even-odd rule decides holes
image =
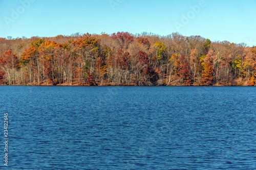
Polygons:
[[0,0],[0,37],[118,31],[256,45],[256,0]]

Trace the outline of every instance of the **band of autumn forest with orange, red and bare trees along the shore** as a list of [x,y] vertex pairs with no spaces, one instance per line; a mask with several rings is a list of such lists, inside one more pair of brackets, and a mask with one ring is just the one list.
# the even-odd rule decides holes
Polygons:
[[172,33],[0,38],[1,85],[255,86],[256,47]]

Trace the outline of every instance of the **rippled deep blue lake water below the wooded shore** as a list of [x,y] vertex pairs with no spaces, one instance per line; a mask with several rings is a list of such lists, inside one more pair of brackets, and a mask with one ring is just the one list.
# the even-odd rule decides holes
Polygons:
[[0,169],[256,169],[255,87],[0,90]]

